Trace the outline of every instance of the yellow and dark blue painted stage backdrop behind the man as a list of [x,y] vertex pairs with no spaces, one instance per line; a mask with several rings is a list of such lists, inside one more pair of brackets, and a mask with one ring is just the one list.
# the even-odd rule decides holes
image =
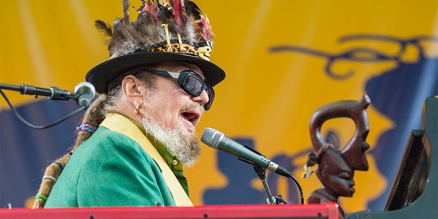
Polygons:
[[[227,72],[198,133],[212,127],[289,168],[307,198],[321,186],[315,176],[300,178],[313,150],[311,114],[326,103],[368,94],[370,170],[355,172],[356,192],[341,204],[347,212],[382,210],[409,131],[420,129],[422,103],[438,94],[438,2],[197,3],[216,34],[211,60]],[[0,83],[72,92],[108,57],[94,20],[112,23],[123,16],[120,0],[0,0],[0,10]],[[75,101],[3,91],[36,125],[77,109]],[[73,144],[80,115],[36,130],[23,125],[4,99],[0,103],[0,205],[23,207],[45,166]],[[342,149],[354,130],[351,120],[337,119],[322,133]],[[266,203],[252,166],[207,146],[187,176],[196,205]],[[268,184],[274,195],[299,202],[293,181],[268,172]]]

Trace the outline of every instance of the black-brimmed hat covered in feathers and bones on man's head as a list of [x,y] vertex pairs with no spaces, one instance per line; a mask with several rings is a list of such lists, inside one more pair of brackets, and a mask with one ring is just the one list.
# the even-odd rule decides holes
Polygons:
[[107,37],[110,59],[92,68],[86,81],[96,92],[107,93],[118,75],[136,67],[160,62],[188,62],[201,68],[213,87],[225,78],[222,68],[209,61],[212,49],[207,16],[192,1],[142,0],[137,21],[130,21],[129,1],[123,0],[123,18],[113,25],[96,21]]

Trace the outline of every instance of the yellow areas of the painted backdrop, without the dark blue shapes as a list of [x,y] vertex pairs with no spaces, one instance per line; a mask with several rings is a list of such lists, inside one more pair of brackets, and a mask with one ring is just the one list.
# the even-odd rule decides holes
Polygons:
[[[136,7],[140,3],[131,1]],[[215,33],[211,60],[227,72],[225,81],[215,87],[214,105],[198,125],[198,133],[212,127],[231,138],[253,139],[255,149],[267,157],[292,156],[311,149],[309,119],[318,107],[333,101],[360,99],[366,93],[365,81],[400,66],[400,61],[388,59],[365,62],[339,58],[330,65],[331,71],[342,75],[353,70],[354,74],[348,79],[336,80],[324,70],[328,63],[326,55],[274,51],[274,48],[292,45],[336,55],[351,48],[366,47],[394,55],[400,51],[399,44],[380,40],[339,42],[339,39],[355,34],[401,39],[438,36],[437,1],[210,0],[196,3],[207,14]],[[120,0],[1,0],[0,83],[73,90],[75,84],[84,81],[90,68],[108,57],[94,29],[94,20],[112,22],[116,16],[123,16],[121,8]],[[437,43],[424,48],[422,54],[437,57]],[[409,46],[400,57],[403,63],[415,63],[420,59],[419,54],[417,47]],[[366,58],[370,53],[355,55]],[[8,96],[16,106],[34,101],[14,92]],[[5,102],[0,103],[5,110]],[[371,151],[378,137],[394,123],[373,105],[368,113]],[[340,119],[326,123],[324,129],[337,131],[342,146],[355,127],[350,120]],[[296,156],[294,165],[303,166],[306,158],[307,154]],[[379,172],[373,155],[368,155],[368,162],[370,171],[355,172],[355,195],[342,199],[347,212],[367,209],[368,201],[380,196],[392,181]],[[301,172],[301,168],[296,168],[294,175],[307,197],[321,184],[316,177],[301,179]],[[187,170],[187,175],[195,205],[203,205],[207,188],[223,188],[228,183],[227,177],[218,170],[217,152],[207,146],[198,164]],[[256,176],[249,185],[242,185],[245,186],[263,189]],[[285,190],[283,184],[279,185],[279,193],[286,199],[292,198],[287,197]]]

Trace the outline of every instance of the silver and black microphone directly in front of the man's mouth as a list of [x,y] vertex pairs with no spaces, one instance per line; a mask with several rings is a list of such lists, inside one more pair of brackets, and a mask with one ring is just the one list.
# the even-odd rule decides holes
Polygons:
[[234,155],[248,164],[257,165],[261,168],[272,170],[284,177],[291,177],[292,175],[292,172],[286,170],[286,168],[283,166],[275,164],[270,159],[261,155],[261,153],[251,149],[248,146],[243,146],[242,144],[231,140],[231,138],[228,138],[223,133],[216,131],[215,129],[211,129],[209,127],[205,128],[203,134],[201,135],[201,142],[216,150],[224,151],[225,153]]

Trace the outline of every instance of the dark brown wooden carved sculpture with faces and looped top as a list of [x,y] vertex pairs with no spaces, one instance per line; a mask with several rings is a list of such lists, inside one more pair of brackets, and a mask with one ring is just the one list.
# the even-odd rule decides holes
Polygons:
[[[322,183],[322,188],[313,191],[307,203],[336,202],[339,196],[351,197],[355,192],[353,176],[355,170],[368,170],[365,151],[370,146],[365,142],[370,125],[366,109],[370,98],[363,95],[359,101],[338,101],[320,107],[310,120],[310,136],[315,153],[310,153],[302,177],[311,175],[309,167],[318,164],[315,174]],[[322,124],[331,118],[351,118],[355,122],[356,131],[341,151],[326,142],[322,137]],[[344,218],[344,211],[339,207],[339,216]]]

